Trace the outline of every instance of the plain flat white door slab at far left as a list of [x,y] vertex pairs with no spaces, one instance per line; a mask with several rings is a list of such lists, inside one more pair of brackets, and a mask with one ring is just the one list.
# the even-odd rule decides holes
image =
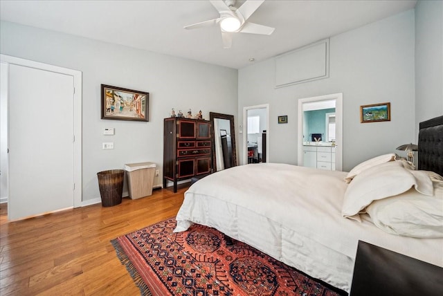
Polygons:
[[73,207],[73,76],[9,66],[10,220]]

